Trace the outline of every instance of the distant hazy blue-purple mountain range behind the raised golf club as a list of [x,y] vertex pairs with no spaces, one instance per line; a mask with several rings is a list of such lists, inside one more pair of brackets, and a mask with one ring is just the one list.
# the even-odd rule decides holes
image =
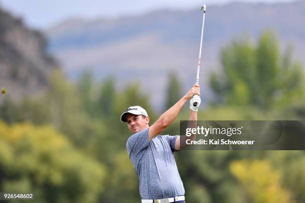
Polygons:
[[[154,106],[163,103],[168,72],[175,72],[186,91],[195,82],[202,12],[156,10],[145,15],[69,19],[45,31],[49,50],[70,77],[91,69],[103,79],[116,77],[119,88],[140,81]],[[248,34],[253,40],[274,30],[282,50],[289,44],[305,62],[305,1],[207,5],[200,85],[209,97],[208,75],[219,71],[219,52],[232,39]]]

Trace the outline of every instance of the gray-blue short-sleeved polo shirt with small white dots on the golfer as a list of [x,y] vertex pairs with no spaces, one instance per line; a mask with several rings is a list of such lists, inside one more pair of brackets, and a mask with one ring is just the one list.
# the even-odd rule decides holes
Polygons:
[[172,198],[184,195],[173,152],[178,135],[157,135],[150,142],[149,128],[127,140],[127,151],[140,181],[142,200]]

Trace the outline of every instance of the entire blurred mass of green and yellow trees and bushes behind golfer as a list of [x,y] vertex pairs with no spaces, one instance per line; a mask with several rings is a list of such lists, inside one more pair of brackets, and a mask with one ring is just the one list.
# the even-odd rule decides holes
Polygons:
[[[244,39],[225,47],[224,72],[212,79],[218,103],[200,107],[198,119],[304,119],[301,65],[292,60],[290,49],[283,56],[279,52],[269,32],[257,46]],[[167,107],[180,99],[177,78],[171,75],[168,81]],[[0,123],[0,191],[31,191],[41,203],[139,202],[138,177],[126,151],[131,133],[120,116],[128,106],[141,105],[151,124],[157,119],[141,84],[119,89],[112,77],[96,84],[90,72],[73,84],[58,70],[48,84],[39,97],[17,103],[5,95],[0,103],[6,123]],[[180,134],[188,105],[162,134]],[[266,196],[274,191],[283,202],[305,202],[302,151],[174,154],[188,203],[266,202],[274,200]],[[266,191],[254,195],[261,190]]]

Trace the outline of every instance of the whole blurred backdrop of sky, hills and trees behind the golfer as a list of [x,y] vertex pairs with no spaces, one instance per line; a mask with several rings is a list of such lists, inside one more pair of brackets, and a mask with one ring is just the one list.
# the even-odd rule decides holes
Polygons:
[[[140,202],[120,115],[153,123],[195,83],[202,3],[198,119],[304,120],[304,0],[0,0],[0,192]],[[187,203],[305,202],[303,151],[175,159]]]

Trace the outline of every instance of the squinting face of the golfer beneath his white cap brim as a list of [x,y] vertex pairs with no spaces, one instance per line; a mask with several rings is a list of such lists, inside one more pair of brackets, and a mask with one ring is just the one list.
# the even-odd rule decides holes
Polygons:
[[132,133],[140,132],[149,127],[150,118],[143,115],[128,114],[126,116],[128,129]]

